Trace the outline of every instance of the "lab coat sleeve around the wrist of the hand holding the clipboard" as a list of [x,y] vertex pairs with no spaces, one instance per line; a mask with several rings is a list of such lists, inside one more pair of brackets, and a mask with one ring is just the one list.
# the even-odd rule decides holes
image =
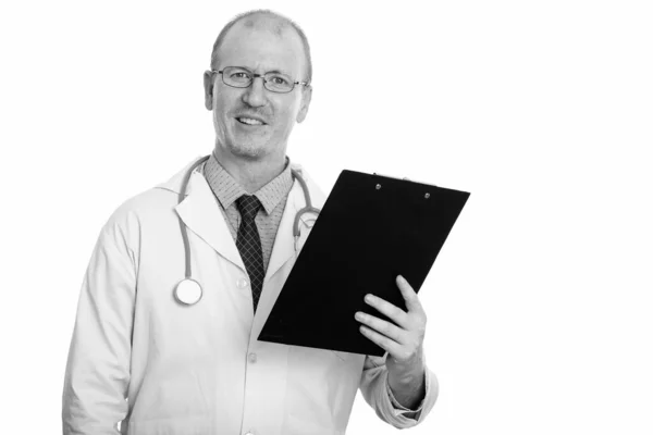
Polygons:
[[[426,357],[422,357],[426,376],[424,399],[416,409],[406,409],[393,397],[387,384],[386,357],[387,352],[383,357],[366,357],[360,377],[360,393],[381,420],[397,428],[412,427],[422,422],[435,405],[439,393],[438,378],[426,365]],[[408,417],[412,413],[412,418]]]

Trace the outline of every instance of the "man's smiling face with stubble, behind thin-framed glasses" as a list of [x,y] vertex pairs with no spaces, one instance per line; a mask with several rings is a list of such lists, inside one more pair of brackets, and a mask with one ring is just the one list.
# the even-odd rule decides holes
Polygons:
[[[281,35],[266,28],[232,27],[220,47],[217,71],[243,66],[255,74],[279,71],[296,82],[305,80],[306,65],[299,36],[292,27]],[[205,74],[206,107],[213,111],[217,147],[239,158],[262,160],[285,157],[295,122],[304,121],[310,89],[296,85],[288,94],[275,94],[256,77],[248,88],[234,88],[220,74]]]

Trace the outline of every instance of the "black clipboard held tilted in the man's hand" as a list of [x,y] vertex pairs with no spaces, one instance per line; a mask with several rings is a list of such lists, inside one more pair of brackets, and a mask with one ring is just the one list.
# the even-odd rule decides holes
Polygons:
[[390,321],[368,293],[406,310],[396,276],[419,293],[469,195],[343,171],[258,339],[382,357],[354,314]]

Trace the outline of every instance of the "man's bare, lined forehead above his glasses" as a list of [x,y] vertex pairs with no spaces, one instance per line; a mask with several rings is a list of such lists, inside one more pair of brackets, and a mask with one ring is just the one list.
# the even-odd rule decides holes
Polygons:
[[257,73],[279,70],[298,76],[304,71],[304,47],[289,25],[236,23],[220,46],[219,67],[245,66]]

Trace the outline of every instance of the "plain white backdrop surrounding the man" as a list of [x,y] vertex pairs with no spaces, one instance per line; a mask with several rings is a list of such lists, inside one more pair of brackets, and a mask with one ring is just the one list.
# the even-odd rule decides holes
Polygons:
[[[61,432],[99,229],[210,152],[212,42],[271,8],[311,42],[288,154],[324,190],[352,169],[471,192],[420,293],[441,396],[410,433],[652,434],[650,2],[224,3],[2,2],[2,432]],[[359,395],[348,433],[396,431]]]

